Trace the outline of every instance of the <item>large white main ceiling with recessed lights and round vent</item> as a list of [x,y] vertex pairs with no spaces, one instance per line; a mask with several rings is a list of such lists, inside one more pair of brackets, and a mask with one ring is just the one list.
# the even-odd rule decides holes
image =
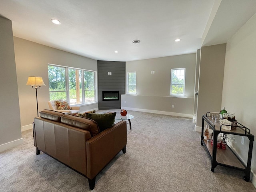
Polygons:
[[[213,3],[0,0],[0,15],[12,20],[16,37],[96,60],[131,61],[196,52]],[[54,25],[52,18],[62,24]],[[140,44],[135,46],[134,39]]]

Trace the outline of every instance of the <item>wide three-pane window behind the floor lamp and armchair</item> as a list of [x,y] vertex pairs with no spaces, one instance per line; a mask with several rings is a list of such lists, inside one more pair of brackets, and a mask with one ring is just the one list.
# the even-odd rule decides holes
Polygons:
[[96,72],[48,65],[50,100],[67,100],[70,105],[96,101]]

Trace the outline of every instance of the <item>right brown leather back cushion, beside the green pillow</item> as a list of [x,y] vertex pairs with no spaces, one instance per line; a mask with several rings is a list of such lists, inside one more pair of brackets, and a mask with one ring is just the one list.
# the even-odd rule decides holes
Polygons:
[[69,126],[87,130],[90,132],[92,137],[100,132],[97,123],[88,118],[78,117],[71,114],[64,114],[61,116],[60,122]]

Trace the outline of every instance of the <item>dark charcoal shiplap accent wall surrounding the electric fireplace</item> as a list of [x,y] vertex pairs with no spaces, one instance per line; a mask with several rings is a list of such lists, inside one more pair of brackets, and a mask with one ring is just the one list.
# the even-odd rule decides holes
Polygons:
[[[102,91],[119,91],[119,101],[103,101]],[[125,94],[125,62],[98,61],[99,110],[120,109],[121,94]]]

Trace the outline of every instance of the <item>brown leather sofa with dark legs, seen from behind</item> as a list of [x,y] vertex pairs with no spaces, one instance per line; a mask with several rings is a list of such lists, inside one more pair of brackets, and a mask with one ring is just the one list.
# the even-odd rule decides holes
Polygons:
[[96,175],[122,150],[126,152],[126,122],[100,132],[91,119],[52,110],[34,118],[36,154],[40,151],[88,178],[90,189]]

